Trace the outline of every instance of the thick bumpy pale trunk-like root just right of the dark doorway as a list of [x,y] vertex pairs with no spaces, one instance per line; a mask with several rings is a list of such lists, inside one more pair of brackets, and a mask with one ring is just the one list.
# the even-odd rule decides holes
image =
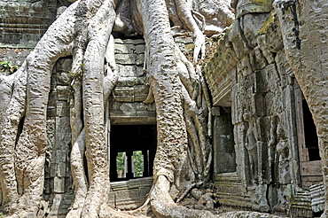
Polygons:
[[211,213],[176,206],[170,187],[180,187],[189,172],[188,138],[184,121],[183,84],[176,67],[175,42],[170,32],[165,1],[139,0],[138,10],[144,23],[144,39],[149,51],[147,71],[157,113],[158,144],[154,160],[152,210],[158,217],[211,217]]

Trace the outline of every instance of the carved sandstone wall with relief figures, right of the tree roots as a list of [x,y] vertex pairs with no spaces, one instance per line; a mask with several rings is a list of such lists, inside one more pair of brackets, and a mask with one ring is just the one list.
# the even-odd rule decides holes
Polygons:
[[[229,109],[233,125],[229,146],[234,152],[228,158],[215,152],[215,161],[229,166],[236,157],[235,172],[221,170],[215,177],[218,201],[312,217],[324,206],[323,192],[315,191],[324,187],[319,150],[308,152],[312,148],[304,142],[305,119],[311,115],[304,111],[306,101],[288,64],[272,2],[233,1],[235,23],[205,67],[215,110]],[[227,147],[222,140],[227,134],[217,128],[223,125],[221,116],[214,119],[216,151]]]

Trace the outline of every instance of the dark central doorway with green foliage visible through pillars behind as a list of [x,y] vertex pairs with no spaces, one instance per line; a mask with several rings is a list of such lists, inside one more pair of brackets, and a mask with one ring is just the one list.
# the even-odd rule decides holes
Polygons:
[[110,140],[111,182],[152,175],[156,125],[113,125]]

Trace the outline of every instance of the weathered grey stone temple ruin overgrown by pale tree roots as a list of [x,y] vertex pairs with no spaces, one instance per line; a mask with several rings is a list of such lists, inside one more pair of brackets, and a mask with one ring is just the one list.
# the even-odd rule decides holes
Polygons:
[[[324,210],[324,183],[316,126],[300,86],[286,61],[272,1],[232,3],[236,20],[218,40],[204,72],[213,104],[217,205],[291,217],[314,217]],[[65,1],[0,1],[0,59],[22,63]],[[191,37],[177,36],[184,51]],[[112,125],[111,204],[132,209],[144,203],[152,186],[156,152],[155,106],[143,71],[144,40],[115,36],[119,81],[110,105]],[[50,217],[62,217],[74,199],[69,166],[72,58],[60,58],[51,74],[47,111],[48,147],[43,198]],[[1,103],[0,103],[1,104]],[[117,156],[124,152],[124,172]],[[143,155],[136,175],[134,152]],[[0,192],[1,205],[1,192]]]

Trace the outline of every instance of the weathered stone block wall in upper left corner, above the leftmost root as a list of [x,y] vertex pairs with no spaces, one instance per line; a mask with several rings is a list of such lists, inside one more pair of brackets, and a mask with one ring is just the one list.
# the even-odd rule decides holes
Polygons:
[[[63,2],[63,4],[66,4]],[[14,48],[34,48],[56,18],[57,1],[2,1],[0,43]]]

